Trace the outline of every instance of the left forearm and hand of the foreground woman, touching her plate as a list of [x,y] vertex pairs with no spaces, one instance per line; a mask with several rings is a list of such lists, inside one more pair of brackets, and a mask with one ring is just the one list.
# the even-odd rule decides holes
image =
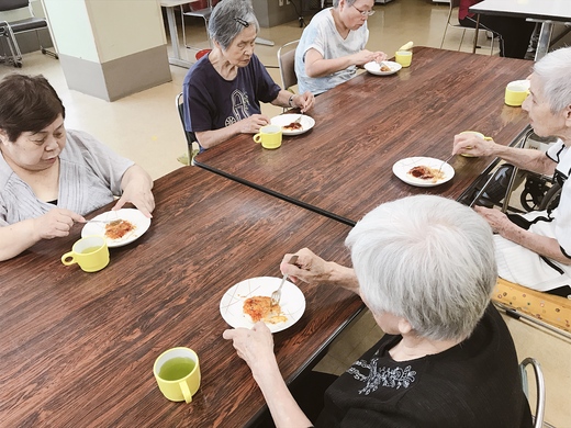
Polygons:
[[251,329],[236,328],[223,333],[232,340],[239,358],[251,370],[254,380],[266,398],[277,428],[311,427],[312,423],[290,393],[273,354],[273,338],[269,328],[259,322]]

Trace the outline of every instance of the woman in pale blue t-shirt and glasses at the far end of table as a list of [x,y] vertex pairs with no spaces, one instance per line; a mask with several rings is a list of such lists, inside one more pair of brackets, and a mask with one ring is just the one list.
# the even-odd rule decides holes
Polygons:
[[312,18],[295,49],[300,91],[317,95],[355,77],[357,67],[387,59],[387,54],[365,48],[373,5],[373,0],[333,0],[333,8]]

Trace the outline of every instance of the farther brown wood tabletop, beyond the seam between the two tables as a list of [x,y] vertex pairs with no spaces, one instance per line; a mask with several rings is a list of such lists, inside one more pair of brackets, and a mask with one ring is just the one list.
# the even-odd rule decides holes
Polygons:
[[520,108],[504,104],[512,80],[533,63],[415,47],[413,63],[392,76],[367,72],[316,98],[309,133],[283,137],[277,150],[238,135],[200,154],[197,165],[329,215],[349,225],[382,202],[433,193],[458,199],[492,158],[457,156],[456,176],[415,188],[392,172],[400,159],[446,159],[454,135],[479,131],[511,144],[527,125]]

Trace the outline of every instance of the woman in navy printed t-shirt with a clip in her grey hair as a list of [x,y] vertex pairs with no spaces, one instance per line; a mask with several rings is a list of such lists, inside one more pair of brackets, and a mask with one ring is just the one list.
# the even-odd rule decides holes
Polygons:
[[212,52],[194,64],[182,86],[184,126],[202,148],[237,134],[256,134],[270,123],[260,101],[302,112],[314,104],[311,92],[280,89],[254,54],[259,24],[247,0],[222,0],[212,11]]

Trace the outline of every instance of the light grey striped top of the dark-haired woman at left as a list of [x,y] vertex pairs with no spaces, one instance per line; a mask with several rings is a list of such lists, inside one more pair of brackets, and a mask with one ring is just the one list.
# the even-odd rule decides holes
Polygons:
[[[91,135],[68,129],[59,154],[57,207],[85,215],[110,203],[121,194],[121,180],[132,165]],[[0,226],[38,217],[54,207],[36,198],[0,153]]]

